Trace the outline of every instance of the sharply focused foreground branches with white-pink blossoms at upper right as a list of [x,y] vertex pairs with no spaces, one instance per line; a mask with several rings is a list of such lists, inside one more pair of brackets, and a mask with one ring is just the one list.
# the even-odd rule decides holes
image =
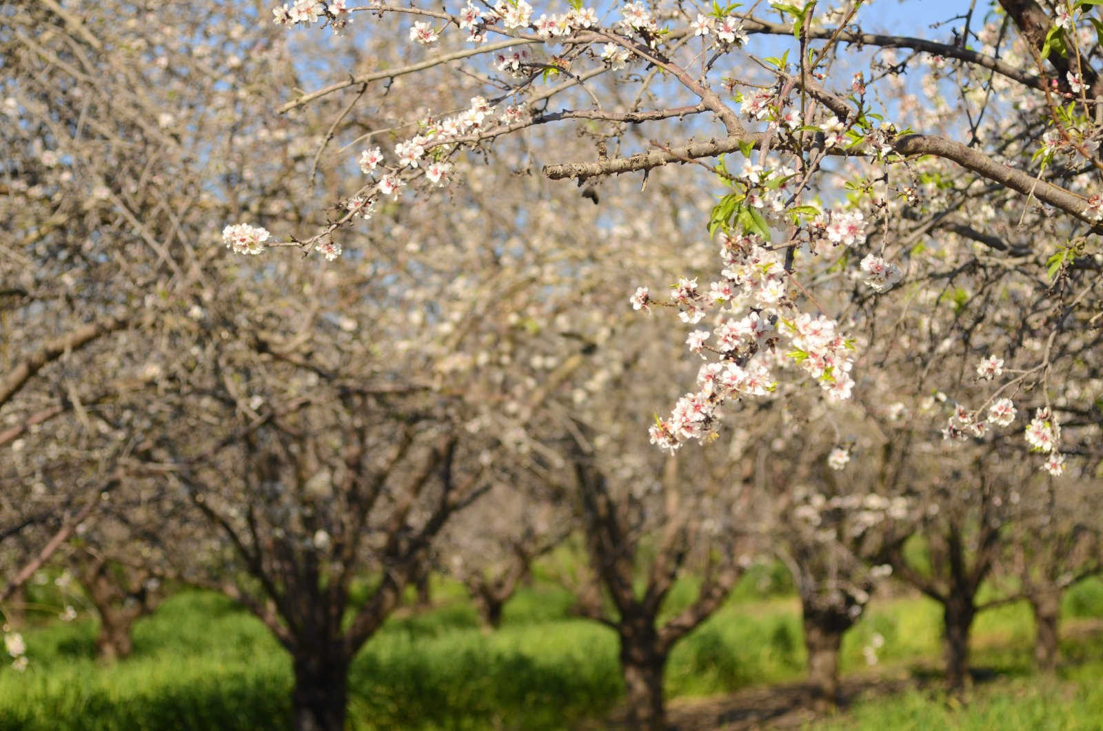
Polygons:
[[[653,297],[646,286],[632,297],[638,309],[677,308],[688,324],[709,318],[708,329],[686,340],[709,360],[697,389],[652,430],[664,448],[711,436],[726,403],[777,393],[785,369],[806,374],[829,399],[848,398],[854,328],[876,320],[854,318],[896,293],[934,293],[938,304],[946,282],[979,277],[983,287],[998,277],[1019,306],[1049,308],[1042,330],[1068,335],[1079,317],[1070,312],[1100,297],[1097,277],[1084,272],[1101,264],[1088,242],[1103,218],[1103,161],[1095,157],[1103,77],[1094,71],[1103,32],[1088,17],[1092,0],[1056,17],[1031,0],[1000,4],[1005,15],[971,13],[964,28],[940,31],[949,38],[939,42],[864,32],[860,1],[624,2],[598,11],[581,0],[431,8],[297,0],[274,9],[277,23],[345,31],[354,15],[390,19],[409,44],[409,63],[351,74],[280,112],[453,66],[483,93],[465,107],[401,121],[387,144],[374,139],[356,150],[364,178],[341,201],[340,215],[310,237],[269,242],[264,229],[239,224],[227,226],[225,243],[243,253],[296,246],[336,258],[341,230],[372,219],[381,205],[462,182],[467,153],[485,157],[495,141],[523,130],[576,123],[585,134],[602,130],[595,134],[597,157],[546,165],[548,178],[581,186],[642,172],[646,186],[655,168],[697,163],[726,188],[707,226],[720,251],[707,288],[699,273],[686,273],[668,298]],[[1018,33],[1006,33],[1006,21]],[[763,47],[788,50],[767,57],[756,52],[757,36],[772,36]],[[921,83],[909,84],[915,76]],[[644,136],[644,125],[682,140]],[[631,142],[643,149],[622,153]],[[743,159],[738,169],[729,167],[736,153]],[[718,157],[716,167],[703,162]],[[1068,243],[1053,253],[1026,235],[1030,226]],[[1052,286],[1038,286],[1039,268]],[[1016,280],[1027,272],[1028,282]],[[955,290],[955,318],[968,309],[971,290]],[[1092,347],[1062,349],[1050,338],[1045,349],[1027,352],[1014,337],[1007,342],[1008,357],[1019,348],[1015,378],[994,381],[981,409],[961,406],[947,438],[982,438],[989,424],[1009,426],[1013,392],[1036,384],[1047,392],[1053,363]],[[1049,409],[1048,398],[1038,407]],[[1058,416],[1045,413],[1039,419],[1056,437]],[[1060,472],[1056,449],[1042,451],[1053,452],[1045,467]]]

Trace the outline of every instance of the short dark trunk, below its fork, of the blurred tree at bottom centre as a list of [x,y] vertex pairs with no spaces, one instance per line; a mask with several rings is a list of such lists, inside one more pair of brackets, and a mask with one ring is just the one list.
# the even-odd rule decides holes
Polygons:
[[622,621],[620,635],[629,725],[639,731],[662,731],[666,729],[663,701],[666,655],[658,649],[654,618],[639,616]]

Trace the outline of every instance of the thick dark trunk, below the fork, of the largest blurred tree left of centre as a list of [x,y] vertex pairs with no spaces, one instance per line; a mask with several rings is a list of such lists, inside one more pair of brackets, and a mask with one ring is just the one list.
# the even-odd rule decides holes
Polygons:
[[307,647],[293,658],[295,731],[344,731],[349,660],[340,649]]

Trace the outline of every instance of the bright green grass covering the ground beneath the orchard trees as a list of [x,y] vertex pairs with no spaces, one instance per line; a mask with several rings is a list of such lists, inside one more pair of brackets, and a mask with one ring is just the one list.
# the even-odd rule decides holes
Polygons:
[[[761,598],[745,584],[670,659],[676,713],[687,697],[799,680],[804,653],[797,606]],[[692,595],[678,587],[674,611]],[[547,584],[525,590],[504,626],[483,634],[454,585],[439,608],[392,619],[357,656],[351,677],[355,729],[601,728],[617,704],[614,635],[567,616],[570,597]],[[1103,616],[1103,584],[1065,601],[1064,617]],[[1081,622],[1081,624],[1083,624]],[[938,667],[939,611],[927,600],[874,604],[847,634],[844,672],[868,676],[861,648],[885,637],[872,672],[885,678]],[[135,628],[136,651],[114,667],[93,659],[92,622],[51,622],[24,632],[31,667],[0,669],[0,729],[269,729],[286,725],[291,687],[287,655],[248,614],[221,596],[184,592]],[[977,619],[975,664],[998,674],[966,707],[933,691],[859,699],[832,729],[1103,729],[1103,634],[1063,643],[1070,663],[1058,679],[1030,677],[1032,622],[1025,605]],[[921,670],[922,671],[922,670]],[[767,691],[762,691],[767,692]],[[738,698],[738,696],[736,697]],[[591,719],[587,721],[586,719]],[[695,727],[704,728],[704,727]]]

